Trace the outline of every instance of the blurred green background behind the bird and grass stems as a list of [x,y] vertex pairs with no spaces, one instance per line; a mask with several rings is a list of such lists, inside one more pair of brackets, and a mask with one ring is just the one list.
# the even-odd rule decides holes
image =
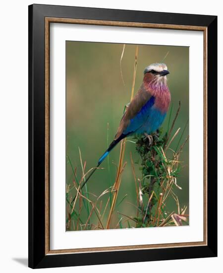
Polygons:
[[[130,101],[136,45],[127,44],[125,46],[121,66],[125,85],[120,73],[122,49],[123,44],[66,41],[66,153],[70,157],[73,167],[76,167],[78,178],[82,175],[78,147],[80,147],[83,162],[86,161],[86,171],[96,167],[99,157],[108,147],[107,142],[110,144],[115,136],[123,115],[124,105]],[[167,76],[167,83],[171,93],[171,121],[175,116],[179,101],[181,101],[181,109],[173,133],[179,127],[182,132],[189,118],[188,47],[139,45],[134,94],[142,83],[144,68],[152,63],[160,62],[166,63],[170,71]],[[170,108],[162,126],[163,131],[167,130],[169,113]],[[109,141],[107,141],[108,124]],[[189,126],[187,125],[181,142],[188,135]],[[170,147],[175,149],[178,140],[179,137],[176,137]],[[113,185],[116,175],[115,164],[118,164],[119,151],[120,144],[110,153],[110,172],[106,159],[100,166],[105,169],[97,170],[94,173],[87,183],[89,192],[98,196],[110,187],[110,183]],[[116,207],[116,210],[134,217],[136,208],[129,204],[136,204],[130,151],[134,161],[139,160],[139,155],[135,151],[135,144],[126,142],[124,161],[127,161],[127,165],[122,175],[116,204],[126,194],[127,197]],[[187,205],[189,208],[188,142],[183,148],[180,160],[183,161],[183,168],[177,179],[177,184],[182,187],[182,190],[176,188],[175,193],[178,196],[180,207]],[[141,178],[141,172],[138,170],[139,165],[135,165],[135,168],[136,176]],[[71,166],[67,163],[66,184],[71,187],[73,185],[72,177]],[[75,190],[71,191],[70,194],[74,196]],[[89,197],[91,198],[91,196]],[[108,196],[105,200],[107,198]],[[167,208],[170,212],[173,210],[177,212],[176,204],[171,198],[168,201]],[[84,209],[82,209],[82,214],[82,218],[86,217]]]

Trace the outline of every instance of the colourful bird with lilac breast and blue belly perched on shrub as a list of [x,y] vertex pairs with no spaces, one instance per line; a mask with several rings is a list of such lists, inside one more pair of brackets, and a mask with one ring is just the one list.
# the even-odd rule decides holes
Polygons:
[[[123,138],[135,135],[150,136],[160,128],[167,115],[171,99],[167,74],[169,74],[167,65],[163,63],[151,64],[144,69],[143,82],[126,107],[113,141],[99,158],[97,167],[84,180],[81,189]],[[76,196],[72,202],[75,198]]]

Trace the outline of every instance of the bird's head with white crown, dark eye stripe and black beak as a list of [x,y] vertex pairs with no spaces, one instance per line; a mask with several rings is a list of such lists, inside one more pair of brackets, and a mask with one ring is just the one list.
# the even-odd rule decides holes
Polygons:
[[144,70],[144,80],[154,84],[167,84],[167,66],[165,64],[152,64]]

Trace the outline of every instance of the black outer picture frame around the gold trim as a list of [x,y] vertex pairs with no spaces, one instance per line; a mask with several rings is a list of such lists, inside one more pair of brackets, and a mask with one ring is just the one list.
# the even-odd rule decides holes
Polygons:
[[[33,4],[29,6],[29,263],[68,267],[217,256],[217,16]],[[45,18],[207,27],[207,245],[46,255]]]

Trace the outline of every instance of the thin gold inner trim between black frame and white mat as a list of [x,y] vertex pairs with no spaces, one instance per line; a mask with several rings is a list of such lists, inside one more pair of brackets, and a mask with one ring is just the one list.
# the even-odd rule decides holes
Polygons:
[[[85,25],[103,26],[123,26],[139,28],[159,28],[176,30],[194,30],[203,32],[204,41],[204,240],[202,242],[170,243],[155,245],[133,245],[97,248],[76,248],[76,249],[50,249],[50,23],[68,23]],[[65,254],[65,253],[86,253],[86,252],[105,252],[140,250],[171,247],[191,247],[207,245],[207,27],[185,26],[168,24],[151,24],[122,21],[88,20],[88,19],[69,19],[45,17],[45,255]]]

